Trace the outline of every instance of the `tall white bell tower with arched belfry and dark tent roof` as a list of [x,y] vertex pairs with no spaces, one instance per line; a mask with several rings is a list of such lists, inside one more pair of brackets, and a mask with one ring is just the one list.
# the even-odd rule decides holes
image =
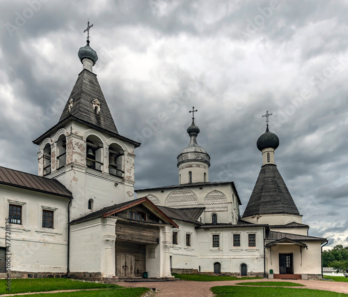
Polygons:
[[139,142],[118,133],[93,73],[97,52],[87,44],[78,56],[82,71],[54,127],[38,144],[38,174],[56,178],[72,192],[72,219],[134,199],[134,149]]

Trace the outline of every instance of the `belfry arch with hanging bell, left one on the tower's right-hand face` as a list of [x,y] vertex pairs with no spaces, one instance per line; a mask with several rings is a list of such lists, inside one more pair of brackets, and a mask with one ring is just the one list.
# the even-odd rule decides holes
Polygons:
[[88,168],[102,171],[103,169],[103,143],[95,135],[86,139],[86,165]]

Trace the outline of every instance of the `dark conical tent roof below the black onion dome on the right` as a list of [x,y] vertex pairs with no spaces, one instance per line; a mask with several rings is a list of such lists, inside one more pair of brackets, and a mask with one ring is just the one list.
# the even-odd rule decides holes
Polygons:
[[286,213],[300,215],[276,165],[263,165],[243,218],[251,215]]

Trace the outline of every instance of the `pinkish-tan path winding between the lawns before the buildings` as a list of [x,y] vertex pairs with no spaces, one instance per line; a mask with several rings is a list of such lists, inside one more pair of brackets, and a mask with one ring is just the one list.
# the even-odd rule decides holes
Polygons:
[[211,287],[230,286],[237,282],[296,282],[306,287],[296,289],[317,289],[348,294],[348,282],[329,282],[323,280],[227,280],[222,282],[192,282],[177,280],[176,282],[118,282],[122,287],[148,287],[159,289],[156,297],[212,297]]

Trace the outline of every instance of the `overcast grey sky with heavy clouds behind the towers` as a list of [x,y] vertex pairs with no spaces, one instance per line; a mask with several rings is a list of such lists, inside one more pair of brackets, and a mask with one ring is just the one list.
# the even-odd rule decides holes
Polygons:
[[0,165],[37,173],[33,139],[58,122],[81,63],[121,135],[142,142],[136,188],[178,182],[194,106],[210,181],[248,202],[266,128],[310,235],[348,245],[347,1],[1,1]]

